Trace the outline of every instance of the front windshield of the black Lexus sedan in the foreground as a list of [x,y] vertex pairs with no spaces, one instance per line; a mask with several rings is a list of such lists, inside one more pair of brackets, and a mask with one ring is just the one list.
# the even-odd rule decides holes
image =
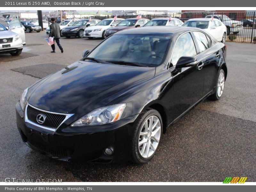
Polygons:
[[141,63],[147,67],[160,65],[168,50],[170,36],[116,34],[95,48],[87,57],[106,62]]

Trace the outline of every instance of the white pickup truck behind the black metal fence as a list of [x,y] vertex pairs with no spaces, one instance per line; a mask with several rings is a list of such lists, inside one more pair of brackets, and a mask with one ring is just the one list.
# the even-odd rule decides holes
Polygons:
[[[212,15],[207,15],[205,18],[212,18]],[[231,20],[227,15],[214,14],[213,18],[224,23],[224,25],[227,27],[227,35],[229,35],[230,32],[237,34],[239,31],[243,30],[243,23],[241,21]]]

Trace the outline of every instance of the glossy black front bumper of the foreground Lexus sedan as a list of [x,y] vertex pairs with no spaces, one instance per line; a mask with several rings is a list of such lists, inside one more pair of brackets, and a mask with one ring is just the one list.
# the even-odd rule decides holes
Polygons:
[[[137,115],[115,123],[87,127],[71,127],[70,124],[77,119],[71,116],[55,132],[25,122],[24,116],[18,102],[16,121],[22,140],[44,155],[72,162],[113,163],[129,160],[133,122]],[[114,154],[106,155],[106,148],[113,148]]]

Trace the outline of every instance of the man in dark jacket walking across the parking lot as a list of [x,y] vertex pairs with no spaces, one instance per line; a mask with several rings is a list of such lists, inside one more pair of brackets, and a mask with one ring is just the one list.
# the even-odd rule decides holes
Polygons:
[[[53,42],[56,41],[57,45],[60,48],[61,53],[63,53],[63,48],[60,45],[60,26],[58,23],[55,22],[55,18],[51,18],[50,22],[50,34],[49,37],[53,37]],[[51,53],[55,53],[55,44],[52,44],[52,51]]]

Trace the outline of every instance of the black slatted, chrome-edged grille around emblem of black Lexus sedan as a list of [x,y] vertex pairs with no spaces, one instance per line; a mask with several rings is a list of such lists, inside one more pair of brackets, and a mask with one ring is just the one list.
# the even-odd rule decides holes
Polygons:
[[[38,122],[36,121],[36,117],[39,114],[42,114],[45,116],[45,121],[43,124],[38,124]],[[64,119],[66,118],[66,115],[47,113],[45,111],[40,111],[38,109],[28,106],[27,118],[29,121],[31,121],[35,124],[38,124],[40,126],[57,129],[60,126],[60,124],[64,121]]]

